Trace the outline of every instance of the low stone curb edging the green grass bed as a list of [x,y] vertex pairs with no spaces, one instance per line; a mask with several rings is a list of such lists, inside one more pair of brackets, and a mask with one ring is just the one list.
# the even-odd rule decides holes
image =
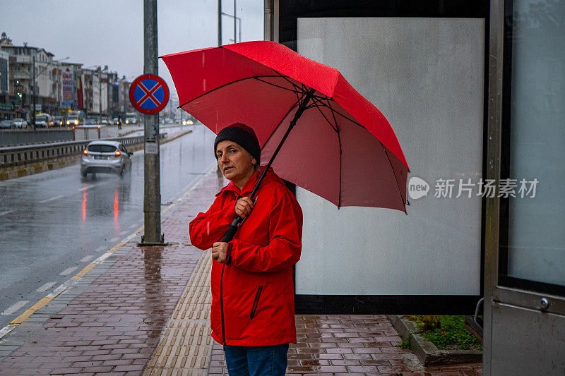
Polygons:
[[410,337],[410,350],[416,354],[424,366],[482,362],[482,351],[440,350],[418,334],[416,326],[410,320],[398,315],[386,315],[386,317],[391,321],[398,335],[403,339]]

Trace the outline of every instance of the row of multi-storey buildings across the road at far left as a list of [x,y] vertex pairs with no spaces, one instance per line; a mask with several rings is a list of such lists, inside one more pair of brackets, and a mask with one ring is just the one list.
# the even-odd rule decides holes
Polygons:
[[118,77],[108,66],[83,68],[82,63],[57,61],[54,54],[39,47],[14,45],[3,33],[0,118],[23,117],[30,121],[34,110],[35,114],[47,112],[55,116],[83,110],[87,117],[100,119],[133,111],[127,95],[129,83]]

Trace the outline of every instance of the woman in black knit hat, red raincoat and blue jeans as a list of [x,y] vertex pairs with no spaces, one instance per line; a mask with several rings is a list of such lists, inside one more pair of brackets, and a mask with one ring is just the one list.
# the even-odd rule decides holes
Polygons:
[[[292,265],[302,248],[302,210],[272,169],[249,198],[264,169],[249,126],[223,128],[214,153],[230,183],[189,225],[191,243],[212,248],[212,336],[225,345],[230,375],[284,375],[288,344],[296,342]],[[244,218],[237,234],[221,242],[236,216]]]

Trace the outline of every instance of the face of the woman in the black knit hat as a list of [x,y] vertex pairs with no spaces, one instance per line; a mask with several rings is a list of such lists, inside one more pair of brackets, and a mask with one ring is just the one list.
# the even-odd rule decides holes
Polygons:
[[256,159],[236,142],[230,140],[218,142],[216,156],[222,174],[233,181],[239,189],[242,189],[255,173]]

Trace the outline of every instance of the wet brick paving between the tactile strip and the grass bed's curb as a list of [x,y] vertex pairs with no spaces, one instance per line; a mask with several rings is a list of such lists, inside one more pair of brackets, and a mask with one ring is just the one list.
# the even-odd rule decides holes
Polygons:
[[[290,344],[287,375],[477,376],[482,365],[424,370],[384,315],[296,315],[297,343]],[[408,364],[410,363],[410,368]],[[210,375],[227,375],[215,344]]]

